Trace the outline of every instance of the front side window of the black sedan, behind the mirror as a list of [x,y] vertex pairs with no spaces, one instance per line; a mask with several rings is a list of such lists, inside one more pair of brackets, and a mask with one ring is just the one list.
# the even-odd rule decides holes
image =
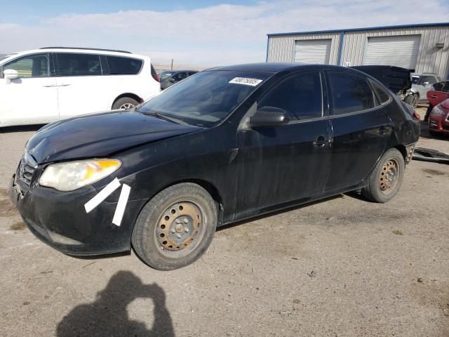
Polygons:
[[286,110],[290,119],[321,117],[323,98],[318,72],[297,74],[278,84],[257,107],[279,107]]

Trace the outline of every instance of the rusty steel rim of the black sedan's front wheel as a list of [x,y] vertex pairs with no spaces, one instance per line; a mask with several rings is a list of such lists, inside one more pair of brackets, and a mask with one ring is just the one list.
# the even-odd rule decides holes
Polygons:
[[178,202],[168,207],[156,228],[156,238],[161,249],[185,249],[198,234],[201,221],[201,211],[190,201]]

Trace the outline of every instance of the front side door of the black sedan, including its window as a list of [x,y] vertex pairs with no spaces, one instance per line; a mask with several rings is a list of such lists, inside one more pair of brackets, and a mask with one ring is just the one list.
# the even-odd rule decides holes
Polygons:
[[257,106],[286,110],[290,122],[238,131],[238,217],[323,193],[331,143],[321,84],[318,71],[283,79]]

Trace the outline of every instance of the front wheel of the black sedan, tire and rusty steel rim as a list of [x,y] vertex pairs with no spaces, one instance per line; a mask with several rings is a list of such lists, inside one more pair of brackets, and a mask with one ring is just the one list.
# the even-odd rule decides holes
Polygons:
[[143,207],[131,242],[147,265],[173,270],[202,256],[216,228],[217,206],[210,194],[194,183],[180,183],[159,192]]

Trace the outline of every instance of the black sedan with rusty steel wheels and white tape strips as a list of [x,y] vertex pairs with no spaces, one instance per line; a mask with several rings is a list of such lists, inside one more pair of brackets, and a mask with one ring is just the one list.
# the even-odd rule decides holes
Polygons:
[[59,251],[133,247],[171,270],[199,258],[217,226],[351,190],[389,201],[419,137],[409,109],[344,67],[215,68],[133,110],[44,126],[9,194]]

